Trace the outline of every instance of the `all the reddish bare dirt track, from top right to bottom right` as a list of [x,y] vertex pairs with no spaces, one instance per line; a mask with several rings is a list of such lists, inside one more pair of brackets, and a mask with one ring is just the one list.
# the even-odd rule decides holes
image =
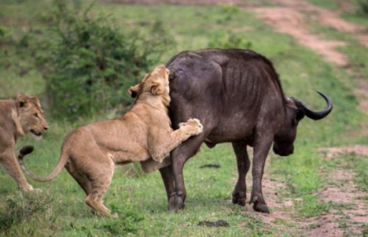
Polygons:
[[[276,7],[260,7],[267,1],[251,1],[251,4],[240,0],[108,0],[110,2],[124,4],[174,4],[174,5],[206,5],[206,4],[234,4],[243,7],[246,11],[256,12],[260,19],[267,22],[275,31],[293,36],[301,44],[316,51],[326,61],[337,66],[346,67],[349,65],[348,57],[336,50],[337,46],[345,45],[343,41],[324,40],[321,36],[313,34],[309,30],[310,22],[317,21],[321,24],[334,28],[338,31],[349,33],[357,38],[362,45],[368,48],[368,32],[361,26],[348,22],[340,17],[342,9],[344,11],[354,11],[354,8],[345,1],[340,1],[339,10],[331,11],[316,7],[301,0],[274,0],[272,4]],[[368,114],[368,80],[357,78],[358,88],[355,94],[359,98],[359,106],[362,111]],[[360,134],[367,134],[368,123],[362,125]],[[355,152],[368,156],[368,146],[351,146],[321,148],[325,151],[327,158],[332,158],[336,154]],[[298,220],[294,218],[293,211],[285,211],[285,207],[293,206],[294,202],[303,200],[280,200],[278,188],[285,188],[283,184],[271,180],[267,174],[263,178],[263,193],[265,194],[268,206],[271,207],[270,215],[259,214],[264,222],[274,225],[276,220],[294,223],[306,236],[353,236],[354,233],[361,232],[361,225],[368,224],[368,206],[361,197],[366,193],[359,192],[354,185],[354,173],[349,170],[337,170],[328,174],[330,185],[316,193],[323,202],[333,201],[352,205],[352,209],[339,213],[332,210],[329,214],[320,218],[308,220]],[[250,178],[250,177],[249,177]],[[250,179],[248,181],[250,182]],[[250,197],[250,194],[248,194]],[[248,208],[251,210],[252,208]],[[313,228],[307,228],[314,226]],[[287,227],[285,227],[287,228]],[[360,228],[360,229],[359,229]]]

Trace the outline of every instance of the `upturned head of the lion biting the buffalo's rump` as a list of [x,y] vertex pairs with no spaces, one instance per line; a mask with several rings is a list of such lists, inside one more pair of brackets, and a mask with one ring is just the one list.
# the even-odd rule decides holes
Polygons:
[[156,66],[152,73],[146,74],[141,83],[128,89],[129,96],[136,98],[139,94],[149,92],[154,95],[166,94],[169,89],[169,69],[164,65]]

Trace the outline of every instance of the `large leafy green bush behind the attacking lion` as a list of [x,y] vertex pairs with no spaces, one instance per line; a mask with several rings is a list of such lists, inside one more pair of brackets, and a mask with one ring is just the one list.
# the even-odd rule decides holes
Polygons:
[[127,88],[139,81],[173,40],[156,21],[144,38],[123,32],[105,16],[93,17],[90,5],[81,12],[55,1],[48,27],[37,37],[31,30],[18,45],[31,51],[56,116],[70,120],[83,115],[123,110],[131,100]]

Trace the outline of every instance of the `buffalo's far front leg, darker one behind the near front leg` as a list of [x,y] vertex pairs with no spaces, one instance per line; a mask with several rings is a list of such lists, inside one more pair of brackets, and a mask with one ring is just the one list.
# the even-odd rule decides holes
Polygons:
[[246,181],[245,177],[250,167],[250,160],[246,150],[245,141],[236,141],[232,143],[233,150],[237,158],[238,165],[238,181],[233,192],[233,203],[245,206],[246,203]]

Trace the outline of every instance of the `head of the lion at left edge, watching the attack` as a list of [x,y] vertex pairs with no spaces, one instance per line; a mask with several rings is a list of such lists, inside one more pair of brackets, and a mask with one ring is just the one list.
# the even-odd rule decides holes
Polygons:
[[14,101],[16,108],[12,111],[12,117],[18,134],[22,136],[30,132],[35,138],[40,139],[49,125],[44,118],[39,100],[34,96],[18,94]]

